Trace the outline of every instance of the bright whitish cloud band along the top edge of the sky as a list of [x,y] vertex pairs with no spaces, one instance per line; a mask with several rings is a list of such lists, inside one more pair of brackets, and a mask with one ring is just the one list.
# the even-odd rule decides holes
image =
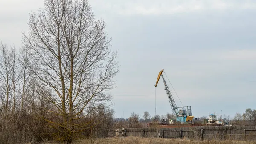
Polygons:
[[253,0],[93,0],[90,3],[96,9],[123,16],[131,15],[169,15],[189,12],[205,12],[207,10],[256,9]]

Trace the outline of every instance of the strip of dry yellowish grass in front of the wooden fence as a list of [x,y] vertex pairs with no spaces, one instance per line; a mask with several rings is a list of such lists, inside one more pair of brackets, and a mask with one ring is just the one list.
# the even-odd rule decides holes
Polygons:
[[[58,144],[58,143],[45,143]],[[104,138],[96,140],[74,141],[74,144],[256,144],[256,141],[191,141],[186,139],[166,138]]]

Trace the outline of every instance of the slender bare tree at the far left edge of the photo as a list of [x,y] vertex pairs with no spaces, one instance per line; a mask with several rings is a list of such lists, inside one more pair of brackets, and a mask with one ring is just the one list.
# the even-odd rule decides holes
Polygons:
[[18,78],[17,54],[14,46],[9,49],[6,44],[0,43],[0,132],[4,133],[0,141],[7,143],[12,142],[15,132]]

